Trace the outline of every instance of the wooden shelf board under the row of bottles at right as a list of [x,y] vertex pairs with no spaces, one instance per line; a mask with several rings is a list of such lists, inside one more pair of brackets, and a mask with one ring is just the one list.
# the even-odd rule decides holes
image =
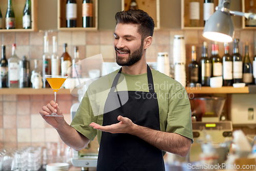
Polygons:
[[195,94],[236,94],[236,93],[249,93],[248,87],[234,88],[232,86],[223,86],[221,88],[211,87],[185,87],[187,93]]

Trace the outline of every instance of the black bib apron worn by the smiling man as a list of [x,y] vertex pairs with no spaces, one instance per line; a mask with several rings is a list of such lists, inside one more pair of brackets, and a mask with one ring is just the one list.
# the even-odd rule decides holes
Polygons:
[[[147,65],[147,81],[150,92],[128,91],[129,99],[122,105],[122,94],[115,91],[122,68],[114,79],[106,99],[104,111],[109,105],[120,106],[103,114],[103,126],[119,123],[119,115],[130,118],[139,126],[160,130],[157,94],[154,90],[153,77]],[[127,91],[126,91],[127,93]],[[146,141],[131,134],[112,134],[102,132],[97,171],[105,170],[165,170],[162,151]]]

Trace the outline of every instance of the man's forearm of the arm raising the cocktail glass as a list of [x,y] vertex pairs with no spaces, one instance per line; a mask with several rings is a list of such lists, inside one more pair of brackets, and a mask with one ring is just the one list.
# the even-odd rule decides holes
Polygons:
[[69,145],[72,149],[79,151],[88,145],[90,140],[77,132],[73,127],[69,126],[66,121],[56,128],[63,142]]

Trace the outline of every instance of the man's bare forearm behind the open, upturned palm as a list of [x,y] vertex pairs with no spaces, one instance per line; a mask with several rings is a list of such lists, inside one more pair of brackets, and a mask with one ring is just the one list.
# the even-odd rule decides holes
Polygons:
[[187,155],[191,145],[189,138],[179,134],[152,130],[135,124],[130,134],[143,139],[160,150],[178,154],[182,157]]

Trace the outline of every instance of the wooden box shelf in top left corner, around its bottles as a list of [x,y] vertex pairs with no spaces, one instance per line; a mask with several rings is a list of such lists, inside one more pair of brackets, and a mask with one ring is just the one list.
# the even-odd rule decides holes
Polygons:
[[5,29],[5,14],[8,7],[8,1],[0,1],[0,7],[2,12],[2,27],[0,32],[34,32],[37,31],[37,0],[31,0],[31,26],[32,29],[23,29],[23,10],[26,4],[26,0],[13,1],[13,10],[15,14],[15,28],[16,29]]

